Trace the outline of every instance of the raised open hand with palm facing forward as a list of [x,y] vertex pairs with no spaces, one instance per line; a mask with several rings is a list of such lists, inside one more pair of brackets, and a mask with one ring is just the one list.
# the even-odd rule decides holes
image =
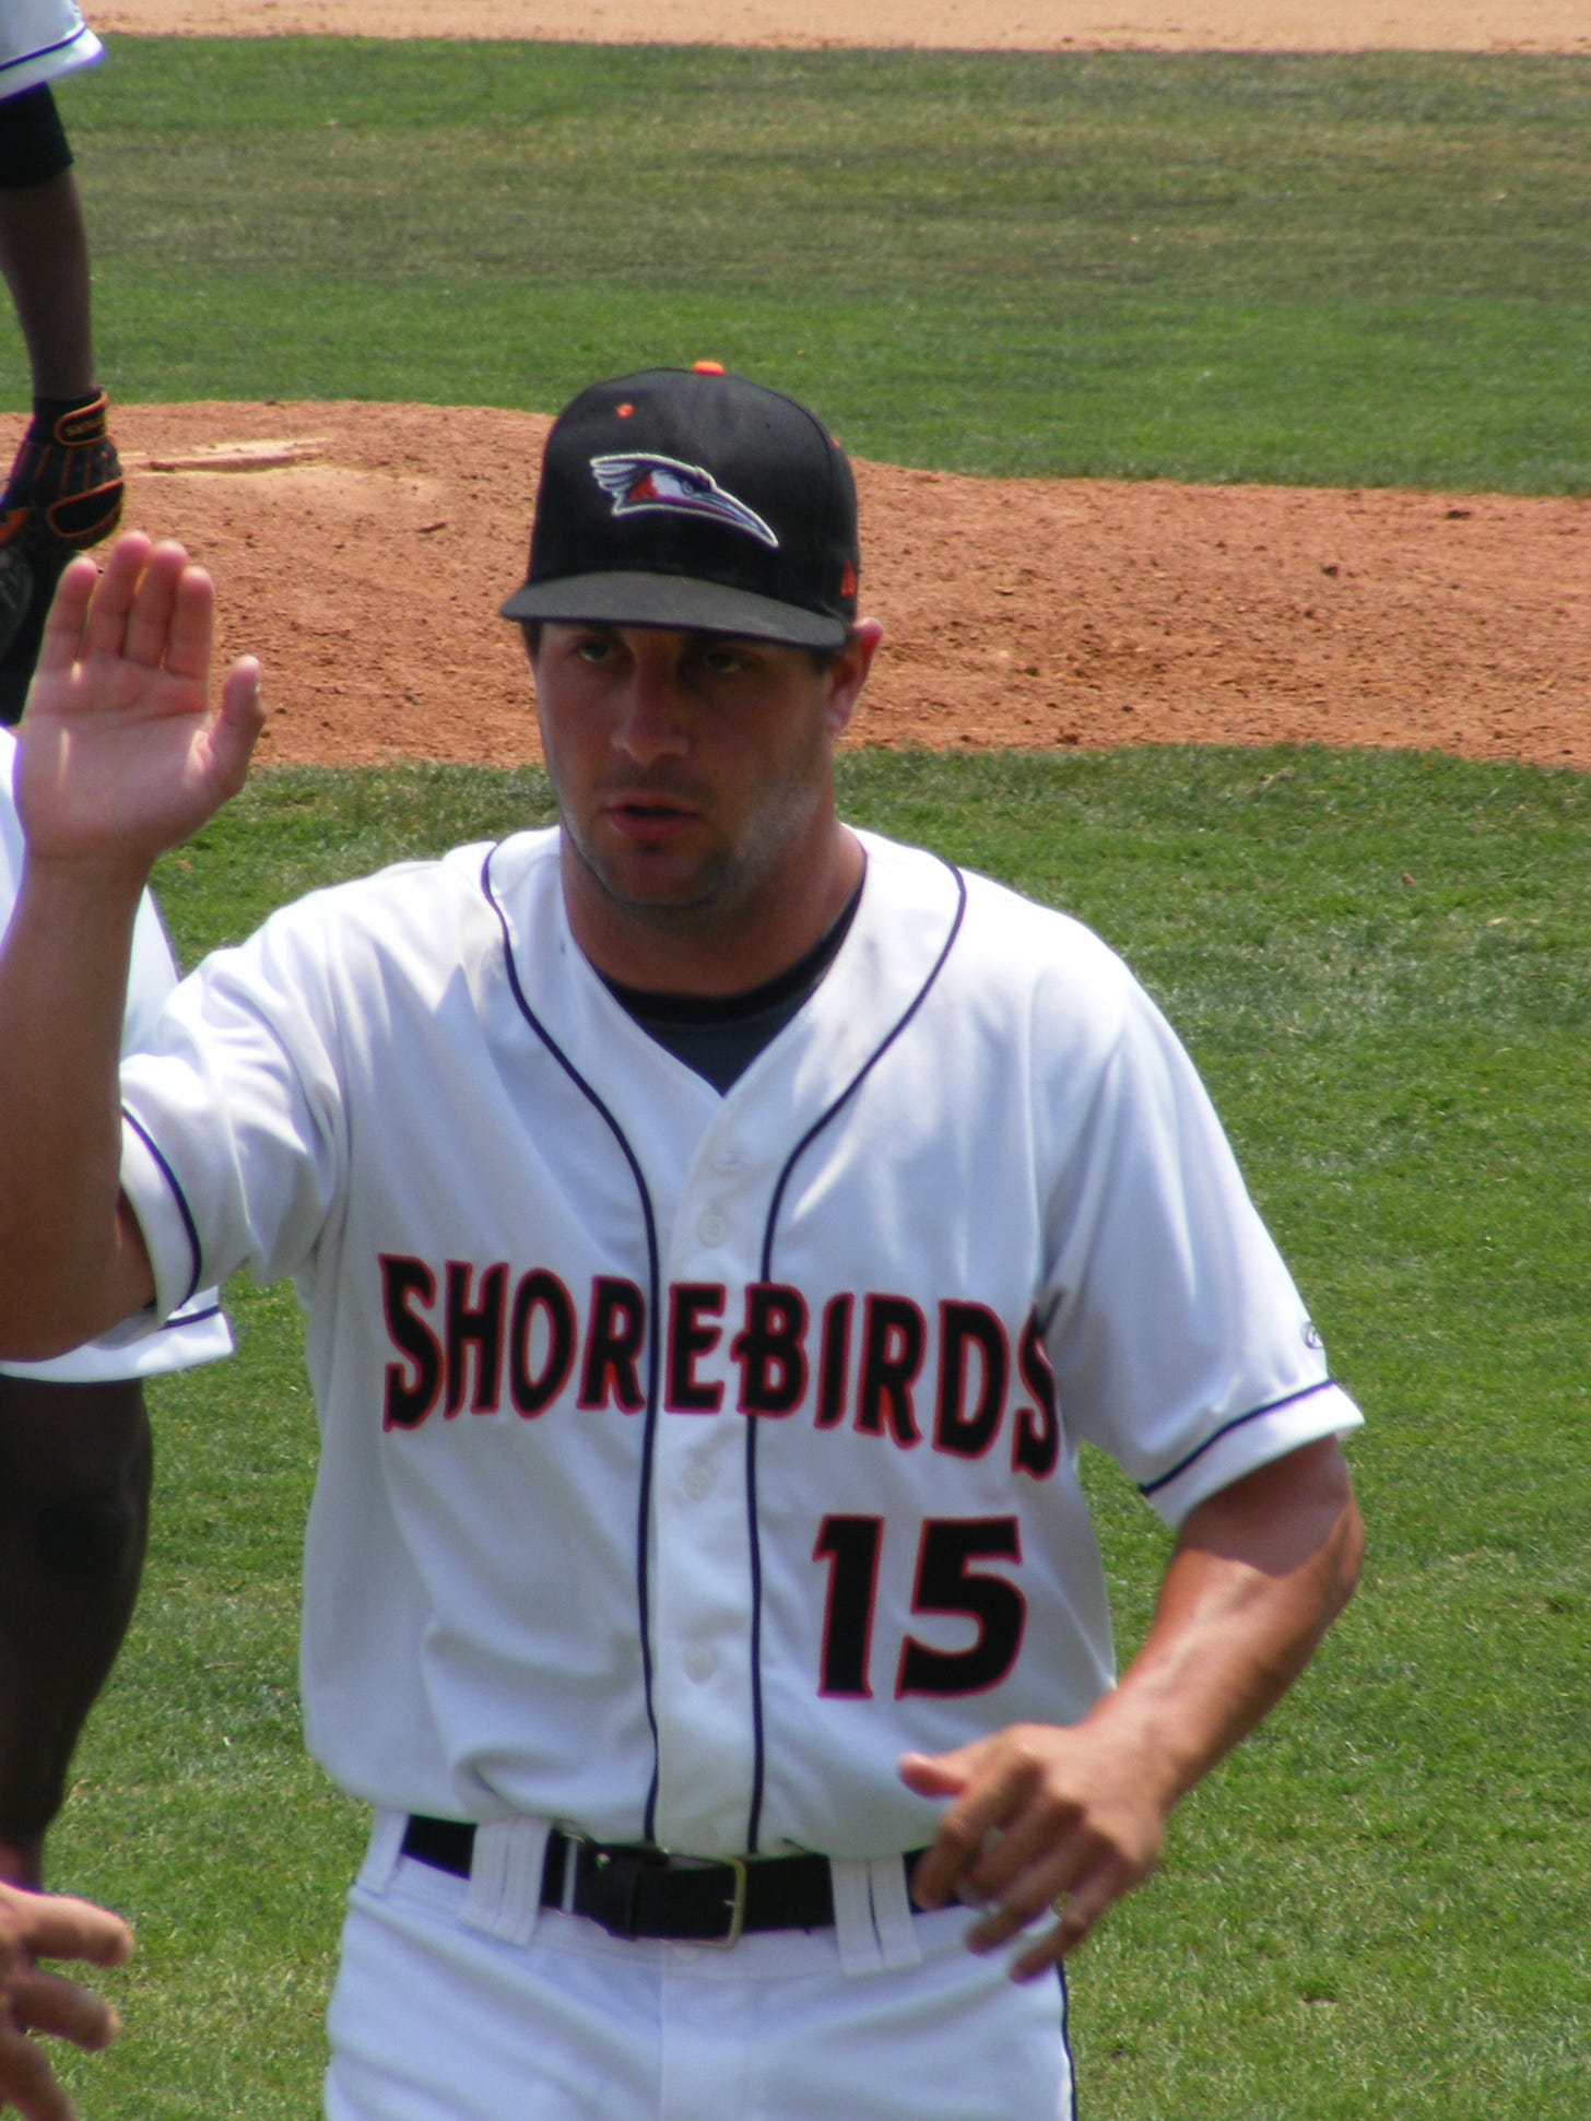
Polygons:
[[134,530],[104,573],[62,575],[17,732],[17,808],[34,859],[148,870],[235,795],[263,725],[240,658],[210,708],[214,590],[182,545]]

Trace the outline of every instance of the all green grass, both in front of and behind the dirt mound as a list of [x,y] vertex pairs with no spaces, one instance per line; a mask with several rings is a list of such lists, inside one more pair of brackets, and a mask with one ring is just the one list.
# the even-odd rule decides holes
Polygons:
[[[554,409],[711,350],[906,462],[1583,492],[1589,110],[1585,62],[119,40],[68,121],[125,397]],[[1580,2121],[1591,783],[1141,749],[842,789],[1129,957],[1370,1417],[1358,1603],[1076,1964],[1084,2121]],[[547,812],[530,770],[276,772],[161,901],[193,961]],[[91,2121],[316,2110],[361,1822],[297,1735],[297,1315],[229,1304],[238,1357],[157,1393],[53,1843],[142,1936]],[[1090,1480],[1131,1646],[1162,1536]]]

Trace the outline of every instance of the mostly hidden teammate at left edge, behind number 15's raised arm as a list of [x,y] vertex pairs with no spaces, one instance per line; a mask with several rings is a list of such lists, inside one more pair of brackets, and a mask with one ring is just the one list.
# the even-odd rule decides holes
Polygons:
[[[0,730],[0,923],[21,874],[13,761],[15,740]],[[144,899],[123,1046],[148,1035],[174,984],[165,935]],[[6,1126],[0,1116],[0,1133]],[[34,1953],[78,1949],[112,1964],[132,1947],[117,1917],[40,1892],[45,1830],[138,1595],[151,1480],[142,1379],[229,1351],[210,1290],[165,1332],[81,1347],[32,1368],[0,1366],[0,2110],[15,2100],[40,2121],[66,2113],[28,2028],[87,2047],[115,2030],[104,2004],[32,1964]]]

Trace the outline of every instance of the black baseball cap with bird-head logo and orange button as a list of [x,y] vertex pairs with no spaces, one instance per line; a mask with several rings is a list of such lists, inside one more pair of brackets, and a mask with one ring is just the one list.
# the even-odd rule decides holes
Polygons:
[[704,361],[592,384],[562,409],[503,617],[832,649],[855,624],[857,573],[840,443],[806,405]]

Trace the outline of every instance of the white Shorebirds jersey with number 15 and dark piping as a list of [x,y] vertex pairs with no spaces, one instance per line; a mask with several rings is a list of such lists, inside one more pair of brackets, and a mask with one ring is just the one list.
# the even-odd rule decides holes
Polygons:
[[127,1063],[159,1309],[246,1264],[308,1313],[301,1678],[354,1794],[916,1847],[904,1748],[1112,1684],[1082,1442],[1175,1523],[1358,1425],[1126,967],[859,838],[725,1097],[583,959],[556,831],[286,908]]

